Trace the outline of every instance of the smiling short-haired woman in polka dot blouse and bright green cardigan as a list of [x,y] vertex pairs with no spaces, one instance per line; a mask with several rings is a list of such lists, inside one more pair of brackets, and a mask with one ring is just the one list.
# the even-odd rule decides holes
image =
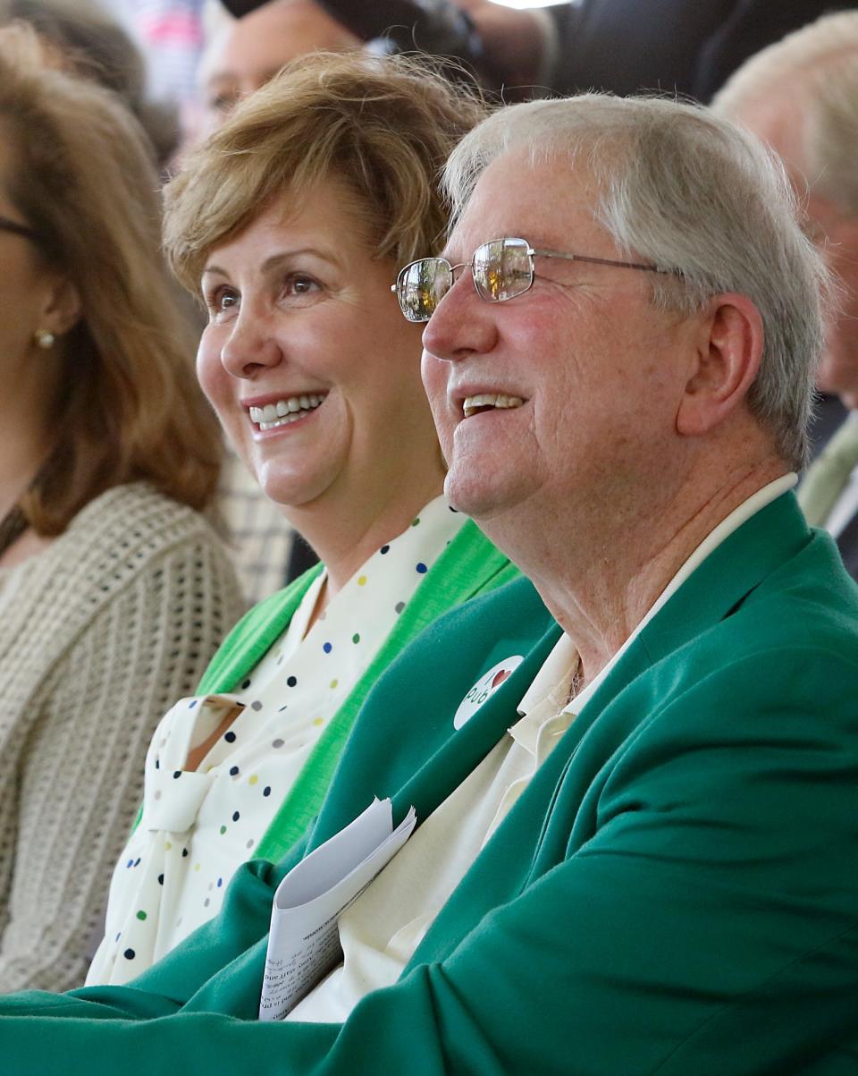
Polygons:
[[420,327],[390,292],[443,233],[437,175],[481,113],[413,63],[311,57],[168,186],[168,254],[209,311],[202,387],[324,567],[253,610],[163,718],[90,983],[139,975],[245,859],[290,847],[380,670],[514,574],[442,496]]

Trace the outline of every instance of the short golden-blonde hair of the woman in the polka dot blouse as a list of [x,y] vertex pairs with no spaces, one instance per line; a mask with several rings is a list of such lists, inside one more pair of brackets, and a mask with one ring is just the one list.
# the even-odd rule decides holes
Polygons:
[[357,196],[378,258],[405,263],[443,241],[441,168],[485,115],[476,93],[427,61],[315,53],[240,104],[166,189],[165,246],[198,292],[209,252],[272,198],[335,179]]

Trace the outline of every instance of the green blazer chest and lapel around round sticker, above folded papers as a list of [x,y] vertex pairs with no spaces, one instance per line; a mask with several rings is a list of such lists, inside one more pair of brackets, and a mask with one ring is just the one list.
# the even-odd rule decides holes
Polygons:
[[[427,628],[369,695],[310,847],[347,825],[373,796],[392,798],[396,822],[412,805],[418,824],[425,821],[516,721],[516,706],[559,635],[525,579]],[[455,730],[454,716],[469,689],[513,655],[524,656],[518,668]]]

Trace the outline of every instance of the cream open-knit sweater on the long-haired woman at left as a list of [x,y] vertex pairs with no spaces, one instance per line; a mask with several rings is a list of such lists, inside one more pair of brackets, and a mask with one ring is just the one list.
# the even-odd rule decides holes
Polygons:
[[149,737],[242,611],[203,518],[143,483],[0,569],[0,992],[84,981]]

